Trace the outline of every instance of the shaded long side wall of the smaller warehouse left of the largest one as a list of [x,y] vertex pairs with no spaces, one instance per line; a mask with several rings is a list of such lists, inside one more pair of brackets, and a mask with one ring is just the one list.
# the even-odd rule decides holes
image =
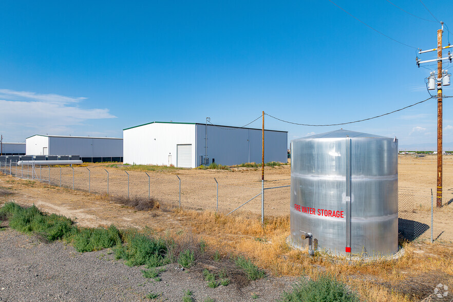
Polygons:
[[109,138],[49,137],[49,155],[121,157],[123,141]]

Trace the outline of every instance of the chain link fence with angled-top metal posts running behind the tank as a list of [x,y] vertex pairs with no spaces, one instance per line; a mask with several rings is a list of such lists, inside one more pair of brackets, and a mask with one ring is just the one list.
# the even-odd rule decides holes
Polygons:
[[[125,171],[105,165],[37,166],[14,162],[0,163],[0,172],[92,194],[150,198],[184,209],[248,215],[257,219],[289,216],[290,178],[269,179],[262,183],[256,177],[241,182],[231,173],[198,176],[177,171]],[[453,214],[453,205],[450,205],[453,190],[444,190],[442,208],[436,207],[435,194],[431,208],[431,192],[413,187],[399,188],[400,237],[411,241],[453,240],[453,228],[449,223]]]

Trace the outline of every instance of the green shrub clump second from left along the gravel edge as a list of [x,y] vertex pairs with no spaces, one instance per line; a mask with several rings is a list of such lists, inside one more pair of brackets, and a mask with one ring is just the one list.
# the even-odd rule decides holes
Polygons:
[[120,231],[115,225],[108,229],[81,229],[73,236],[72,243],[78,252],[100,251],[121,245]]

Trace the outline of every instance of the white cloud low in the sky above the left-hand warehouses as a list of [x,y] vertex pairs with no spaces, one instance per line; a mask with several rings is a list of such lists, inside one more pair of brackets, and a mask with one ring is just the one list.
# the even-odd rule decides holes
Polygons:
[[17,141],[33,134],[68,135],[75,128],[86,126],[87,120],[116,118],[109,109],[76,104],[87,98],[9,89],[0,89],[0,97],[4,99],[0,99],[0,131]]

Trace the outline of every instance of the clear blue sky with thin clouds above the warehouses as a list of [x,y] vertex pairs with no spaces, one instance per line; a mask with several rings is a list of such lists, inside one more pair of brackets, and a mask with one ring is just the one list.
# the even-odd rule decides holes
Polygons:
[[[335,3],[395,40],[436,47],[438,23],[386,0]],[[392,3],[433,20],[420,1]],[[450,2],[423,3],[453,32]],[[2,1],[0,33],[0,132],[10,142],[46,133],[122,137],[123,128],[150,121],[206,117],[241,126],[262,110],[297,123],[341,123],[429,97],[429,70],[417,68],[416,49],[328,0]],[[453,43],[446,30],[443,39]],[[444,95],[453,95],[450,87]],[[446,148],[453,148],[450,100]],[[435,100],[345,126],[266,117],[266,128],[289,131],[289,140],[343,127],[396,136],[401,148],[435,146],[436,123]]]

